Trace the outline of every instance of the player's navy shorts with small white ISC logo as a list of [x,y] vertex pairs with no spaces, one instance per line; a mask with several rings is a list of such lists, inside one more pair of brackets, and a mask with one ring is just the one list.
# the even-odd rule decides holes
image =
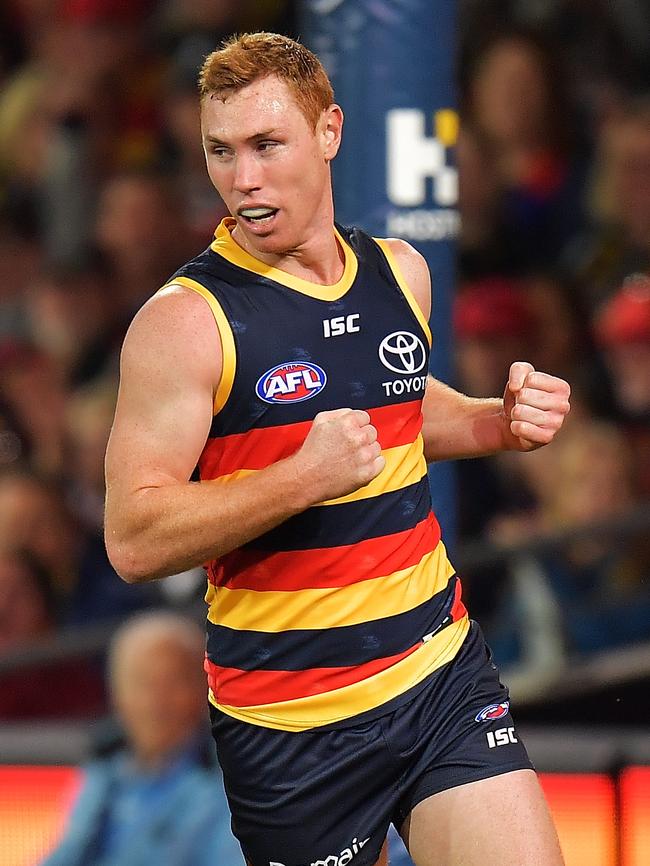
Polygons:
[[531,769],[508,691],[472,623],[456,658],[397,709],[277,731],[212,711],[232,827],[251,866],[372,866],[426,797]]

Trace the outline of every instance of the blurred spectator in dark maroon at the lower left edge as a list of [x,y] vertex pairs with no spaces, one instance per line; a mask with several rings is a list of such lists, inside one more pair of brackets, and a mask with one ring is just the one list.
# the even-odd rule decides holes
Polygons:
[[[25,551],[0,550],[0,659],[51,638],[57,596],[49,572]],[[87,658],[0,673],[0,720],[97,717],[105,712],[101,668]]]

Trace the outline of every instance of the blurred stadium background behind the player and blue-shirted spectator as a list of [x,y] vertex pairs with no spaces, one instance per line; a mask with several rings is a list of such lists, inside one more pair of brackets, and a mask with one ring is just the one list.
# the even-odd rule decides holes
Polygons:
[[302,36],[332,74],[339,219],[429,259],[435,372],[492,395],[523,356],[573,385],[561,442],[432,478],[568,866],[646,864],[650,13],[635,0],[2,5],[2,862],[36,864],[60,832],[108,712],[116,624],[202,615],[200,571],[113,574],[102,455],[128,321],[223,211],[197,66],[257,28]]

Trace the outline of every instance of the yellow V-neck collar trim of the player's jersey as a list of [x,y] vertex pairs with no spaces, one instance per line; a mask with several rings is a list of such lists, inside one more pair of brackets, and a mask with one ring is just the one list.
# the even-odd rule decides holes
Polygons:
[[341,245],[345,257],[343,274],[341,275],[341,279],[333,285],[322,286],[319,283],[310,283],[309,280],[303,280],[301,277],[296,277],[294,274],[289,274],[280,268],[274,268],[272,265],[268,265],[266,262],[262,262],[246,252],[232,239],[230,234],[235,224],[236,220],[232,217],[226,217],[221,221],[214,233],[215,239],[210,247],[213,252],[223,256],[224,259],[233,265],[245,268],[247,271],[252,271],[261,277],[267,277],[276,283],[280,283],[282,286],[295,289],[303,295],[309,295],[309,297],[316,298],[319,301],[338,301],[348,291],[357,276],[359,269],[357,257],[336,228],[334,228],[334,234]]

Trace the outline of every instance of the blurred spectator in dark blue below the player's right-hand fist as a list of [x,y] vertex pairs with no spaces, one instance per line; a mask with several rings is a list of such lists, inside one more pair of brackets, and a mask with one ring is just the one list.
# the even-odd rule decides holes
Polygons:
[[[581,429],[582,428],[582,429]],[[639,502],[629,443],[616,427],[574,427],[556,452],[542,520],[551,528],[603,524]],[[569,650],[590,653],[650,638],[647,538],[593,535],[542,558],[563,612]]]

